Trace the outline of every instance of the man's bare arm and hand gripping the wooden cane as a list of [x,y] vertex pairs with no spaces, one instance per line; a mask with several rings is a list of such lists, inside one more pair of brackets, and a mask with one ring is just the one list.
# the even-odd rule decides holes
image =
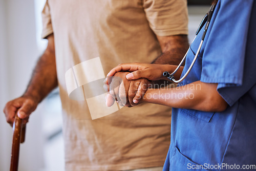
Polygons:
[[27,90],[21,97],[5,105],[6,121],[11,126],[16,112],[19,118],[24,119],[25,123],[28,122],[29,115],[36,109],[38,103],[58,85],[53,34],[47,39],[47,49],[36,64]]

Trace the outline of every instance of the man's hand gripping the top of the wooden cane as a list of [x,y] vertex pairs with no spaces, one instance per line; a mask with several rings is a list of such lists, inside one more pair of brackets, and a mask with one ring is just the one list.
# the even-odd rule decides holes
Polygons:
[[38,103],[30,97],[19,97],[9,101],[4,109],[6,121],[12,126],[17,112],[18,117],[24,119],[23,124],[26,124],[29,115],[36,109],[37,105]]

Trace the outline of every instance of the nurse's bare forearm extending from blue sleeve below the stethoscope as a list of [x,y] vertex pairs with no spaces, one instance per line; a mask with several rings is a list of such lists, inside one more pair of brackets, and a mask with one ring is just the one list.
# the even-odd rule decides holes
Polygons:
[[143,101],[173,108],[221,112],[226,109],[227,103],[219,95],[217,86],[218,84],[196,81],[177,88],[148,89]]

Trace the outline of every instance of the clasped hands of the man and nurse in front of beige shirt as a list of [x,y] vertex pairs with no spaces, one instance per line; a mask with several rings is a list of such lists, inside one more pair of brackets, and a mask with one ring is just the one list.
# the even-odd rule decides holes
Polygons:
[[[165,65],[148,63],[124,63],[113,68],[104,81],[106,105],[112,106],[118,101],[122,106],[135,106],[142,102],[148,88],[153,87],[152,80],[165,79],[162,76]],[[126,71],[126,72],[125,72]]]

